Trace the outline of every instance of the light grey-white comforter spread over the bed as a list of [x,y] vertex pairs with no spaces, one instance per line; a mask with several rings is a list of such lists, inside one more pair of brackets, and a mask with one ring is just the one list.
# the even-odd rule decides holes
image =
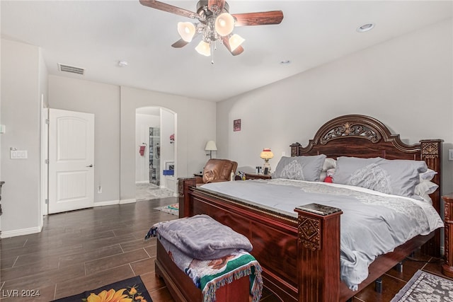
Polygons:
[[202,188],[291,216],[297,216],[294,208],[303,204],[341,209],[340,277],[352,290],[367,278],[368,266],[378,255],[444,226],[428,202],[362,187],[274,179],[214,182]]

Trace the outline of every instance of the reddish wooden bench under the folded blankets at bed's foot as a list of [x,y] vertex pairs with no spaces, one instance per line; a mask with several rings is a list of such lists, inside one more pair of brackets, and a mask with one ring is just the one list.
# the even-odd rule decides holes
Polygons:
[[[164,279],[168,291],[176,302],[202,302],[201,289],[171,260],[164,246],[157,240],[156,274]],[[250,281],[242,277],[225,284],[215,291],[217,302],[248,302]]]

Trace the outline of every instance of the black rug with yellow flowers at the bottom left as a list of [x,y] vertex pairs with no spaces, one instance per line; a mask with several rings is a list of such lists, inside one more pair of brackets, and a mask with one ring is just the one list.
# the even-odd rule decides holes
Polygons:
[[98,289],[93,289],[91,291],[85,291],[84,293],[78,295],[60,298],[55,301],[152,302],[151,297],[149,296],[148,291],[146,287],[144,287],[142,279],[139,276],[115,282],[113,284],[108,284],[106,286],[102,286]]

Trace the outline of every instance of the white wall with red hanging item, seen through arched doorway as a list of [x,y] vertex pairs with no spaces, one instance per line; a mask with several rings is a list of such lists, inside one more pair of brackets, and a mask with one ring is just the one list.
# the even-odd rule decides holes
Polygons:
[[[135,182],[149,182],[149,127],[161,127],[160,115],[135,115]],[[145,143],[144,156],[139,148]]]

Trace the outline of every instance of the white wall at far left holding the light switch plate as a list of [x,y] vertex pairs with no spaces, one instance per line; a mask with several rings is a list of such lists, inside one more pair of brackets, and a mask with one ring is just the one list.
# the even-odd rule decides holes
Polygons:
[[[37,233],[42,227],[41,93],[47,81],[38,47],[1,40],[1,237]],[[11,159],[10,149],[28,151]]]

